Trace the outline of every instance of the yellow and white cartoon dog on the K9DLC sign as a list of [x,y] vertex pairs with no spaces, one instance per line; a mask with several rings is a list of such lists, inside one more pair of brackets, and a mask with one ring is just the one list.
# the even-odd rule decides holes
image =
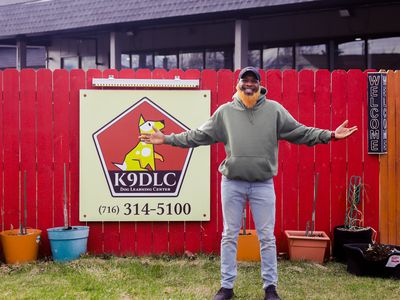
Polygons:
[[[148,121],[140,115],[139,131],[140,133],[154,133],[154,128],[161,130],[164,128],[164,121]],[[154,151],[153,144],[138,142],[137,145],[125,155],[124,161],[121,164],[114,165],[122,171],[148,171],[147,166],[154,171],[155,160],[164,161],[162,155]]]

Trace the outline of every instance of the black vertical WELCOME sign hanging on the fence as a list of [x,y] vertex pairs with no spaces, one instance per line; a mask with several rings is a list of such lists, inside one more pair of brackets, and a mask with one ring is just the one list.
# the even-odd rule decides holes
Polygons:
[[368,73],[368,153],[387,153],[386,73]]

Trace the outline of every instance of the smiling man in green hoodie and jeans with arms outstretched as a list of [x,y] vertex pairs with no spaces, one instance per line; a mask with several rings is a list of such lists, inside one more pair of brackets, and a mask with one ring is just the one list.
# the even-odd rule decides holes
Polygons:
[[239,74],[237,92],[231,102],[220,106],[198,129],[164,135],[157,129],[140,139],[152,144],[197,147],[222,142],[226,158],[219,166],[222,173],[221,198],[224,231],[221,240],[221,289],[214,299],[233,297],[237,275],[237,237],[246,199],[250,203],[261,249],[261,274],[264,299],[280,299],[275,226],[273,176],[277,174],[278,140],[309,146],[344,139],[357,130],[347,121],[335,131],[306,127],[298,123],[279,103],[265,98],[260,74],[246,67]]

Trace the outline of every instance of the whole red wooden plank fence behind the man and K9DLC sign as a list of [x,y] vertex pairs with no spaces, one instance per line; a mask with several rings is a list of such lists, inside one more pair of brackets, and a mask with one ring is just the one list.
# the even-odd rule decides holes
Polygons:
[[[346,141],[316,147],[282,142],[277,193],[276,237],[285,251],[285,229],[304,229],[311,219],[315,172],[320,173],[316,229],[332,233],[344,220],[347,184],[360,175],[365,225],[379,224],[379,162],[366,154],[366,74],[326,70],[261,72],[268,97],[281,102],[300,122],[326,129],[345,119],[359,132]],[[211,90],[211,110],[229,101],[237,72],[228,70],[5,70],[0,72],[0,206],[1,229],[18,227],[21,218],[23,171],[28,174],[28,226],[44,231],[41,254],[49,255],[46,228],[63,225],[63,165],[67,163],[70,222],[78,220],[79,89],[92,88],[92,78],[200,79]],[[220,174],[223,145],[211,146],[211,221],[209,222],[90,222],[88,250],[118,255],[218,253],[222,232]],[[248,218],[248,226],[253,225]]]

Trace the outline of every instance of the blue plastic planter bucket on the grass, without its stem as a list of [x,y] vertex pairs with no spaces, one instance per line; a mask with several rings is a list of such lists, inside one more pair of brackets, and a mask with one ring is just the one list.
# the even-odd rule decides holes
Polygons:
[[72,226],[71,229],[54,227],[47,229],[51,253],[54,261],[69,261],[77,259],[86,253],[88,226]]

